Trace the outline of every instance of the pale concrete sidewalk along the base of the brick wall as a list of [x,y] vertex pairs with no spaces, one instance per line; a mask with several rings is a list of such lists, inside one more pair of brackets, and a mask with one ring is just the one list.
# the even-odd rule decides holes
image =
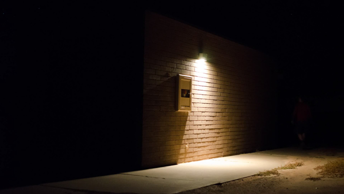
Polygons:
[[252,176],[307,155],[282,148],[95,178],[1,190],[0,194],[174,194]]

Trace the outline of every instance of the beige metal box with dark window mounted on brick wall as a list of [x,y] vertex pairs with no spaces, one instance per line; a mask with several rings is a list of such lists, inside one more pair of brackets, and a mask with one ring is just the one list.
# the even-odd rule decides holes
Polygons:
[[177,75],[177,111],[191,111],[192,108],[192,77]]

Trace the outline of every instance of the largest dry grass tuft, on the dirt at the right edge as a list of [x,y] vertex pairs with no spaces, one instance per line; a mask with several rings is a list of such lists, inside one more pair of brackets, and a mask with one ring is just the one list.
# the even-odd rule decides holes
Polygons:
[[322,166],[317,166],[314,170],[319,171],[317,174],[322,177],[343,178],[344,177],[344,159],[340,158],[329,161]]

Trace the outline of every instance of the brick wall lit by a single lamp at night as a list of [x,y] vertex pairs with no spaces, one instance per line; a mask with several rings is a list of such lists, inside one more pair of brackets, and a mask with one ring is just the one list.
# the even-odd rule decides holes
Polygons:
[[[200,49],[208,54],[206,65],[197,63]],[[276,111],[273,72],[272,60],[261,52],[146,12],[142,166],[269,145]],[[175,111],[177,74],[193,77],[192,112]]]

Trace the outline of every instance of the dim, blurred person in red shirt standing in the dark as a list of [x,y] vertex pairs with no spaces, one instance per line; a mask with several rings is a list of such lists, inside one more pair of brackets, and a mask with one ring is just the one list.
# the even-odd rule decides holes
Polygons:
[[291,122],[292,124],[295,123],[295,129],[298,133],[302,148],[305,148],[306,145],[306,133],[308,133],[311,118],[310,107],[304,102],[304,97],[299,97],[299,103],[295,106]]

